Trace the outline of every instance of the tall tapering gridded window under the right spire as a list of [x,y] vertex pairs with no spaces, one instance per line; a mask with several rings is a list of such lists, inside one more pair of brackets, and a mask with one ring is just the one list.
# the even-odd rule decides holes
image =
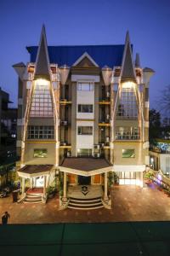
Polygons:
[[133,87],[122,88],[116,115],[128,119],[138,117],[137,101]]

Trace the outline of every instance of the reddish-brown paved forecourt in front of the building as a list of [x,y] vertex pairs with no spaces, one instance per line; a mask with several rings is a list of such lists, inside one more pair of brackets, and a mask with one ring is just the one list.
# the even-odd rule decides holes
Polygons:
[[59,211],[57,197],[43,205],[13,203],[10,196],[0,199],[0,214],[8,211],[11,224],[170,220],[170,197],[159,191],[155,184],[145,185],[143,189],[117,185],[111,196],[111,210],[92,211]]

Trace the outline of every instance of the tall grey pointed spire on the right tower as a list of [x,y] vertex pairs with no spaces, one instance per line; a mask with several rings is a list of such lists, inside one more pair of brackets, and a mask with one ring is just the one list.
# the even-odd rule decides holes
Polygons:
[[126,81],[136,82],[136,76],[135,76],[134,67],[133,67],[132,48],[131,48],[128,32],[126,35],[126,42],[125,42],[124,53],[123,53],[123,57],[122,57],[121,81],[122,82],[126,82]]

